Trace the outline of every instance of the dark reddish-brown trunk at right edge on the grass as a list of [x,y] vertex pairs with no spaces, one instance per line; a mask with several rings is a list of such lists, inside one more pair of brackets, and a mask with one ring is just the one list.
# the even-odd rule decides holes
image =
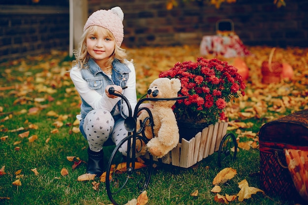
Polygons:
[[259,145],[261,189],[270,196],[302,202],[283,149],[308,151],[308,109],[264,124],[259,132]]

